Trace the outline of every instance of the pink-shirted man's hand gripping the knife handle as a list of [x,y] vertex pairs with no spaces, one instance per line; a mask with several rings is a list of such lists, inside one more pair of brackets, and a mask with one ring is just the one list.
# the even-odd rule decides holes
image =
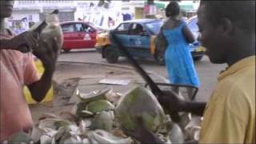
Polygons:
[[[7,42],[8,41],[8,42]],[[33,31],[26,31],[18,34],[10,40],[6,40],[6,49],[18,50],[22,53],[28,53],[34,47],[38,47],[39,35]]]

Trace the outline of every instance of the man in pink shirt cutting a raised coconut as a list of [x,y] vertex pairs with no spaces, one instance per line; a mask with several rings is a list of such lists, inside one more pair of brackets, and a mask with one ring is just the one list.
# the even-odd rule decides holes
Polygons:
[[32,128],[33,120],[22,94],[23,86],[28,86],[35,101],[42,101],[50,89],[58,53],[54,50],[57,42],[50,43],[41,53],[34,52],[45,68],[39,78],[32,54],[19,48],[25,45],[30,50],[38,46],[38,34],[27,31],[15,36],[4,25],[5,19],[13,12],[13,6],[13,0],[0,1],[0,143],[11,134],[28,132]]

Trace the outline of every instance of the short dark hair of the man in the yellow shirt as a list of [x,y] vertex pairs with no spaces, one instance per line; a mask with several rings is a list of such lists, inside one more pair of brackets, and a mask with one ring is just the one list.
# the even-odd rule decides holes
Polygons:
[[206,1],[206,18],[217,26],[221,18],[229,18],[236,26],[246,32],[255,31],[255,1]]

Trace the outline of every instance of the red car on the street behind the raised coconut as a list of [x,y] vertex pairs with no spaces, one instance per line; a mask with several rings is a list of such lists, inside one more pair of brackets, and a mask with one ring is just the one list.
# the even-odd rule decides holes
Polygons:
[[89,22],[62,22],[61,26],[64,34],[62,49],[65,52],[94,48],[98,30]]

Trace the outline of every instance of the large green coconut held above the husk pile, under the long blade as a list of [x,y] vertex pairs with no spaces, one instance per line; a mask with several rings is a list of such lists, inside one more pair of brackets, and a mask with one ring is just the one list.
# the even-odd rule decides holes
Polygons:
[[165,114],[158,100],[150,90],[136,86],[129,90],[118,102],[115,109],[115,117],[127,130],[135,130],[138,126],[137,117],[153,132],[164,124]]

